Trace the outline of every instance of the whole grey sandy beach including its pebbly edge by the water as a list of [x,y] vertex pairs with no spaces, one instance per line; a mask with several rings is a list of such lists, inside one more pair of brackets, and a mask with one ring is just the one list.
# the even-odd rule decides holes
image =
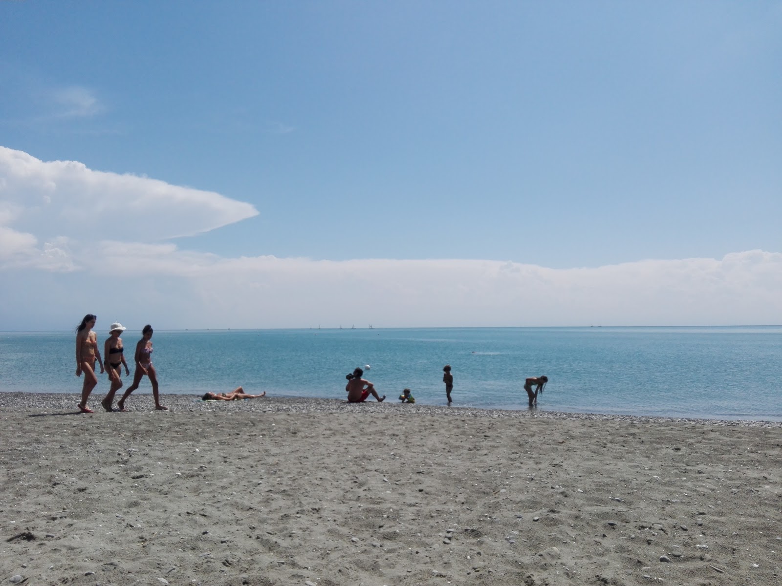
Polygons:
[[0,393],[0,581],[780,581],[779,423],[194,398]]

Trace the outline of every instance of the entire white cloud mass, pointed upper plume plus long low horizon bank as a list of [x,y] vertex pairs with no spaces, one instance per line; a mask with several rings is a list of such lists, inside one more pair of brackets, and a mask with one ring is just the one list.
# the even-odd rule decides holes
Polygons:
[[160,328],[782,323],[779,252],[551,269],[225,258],[161,241],[255,214],[216,193],[0,148],[0,329],[68,327],[88,312]]

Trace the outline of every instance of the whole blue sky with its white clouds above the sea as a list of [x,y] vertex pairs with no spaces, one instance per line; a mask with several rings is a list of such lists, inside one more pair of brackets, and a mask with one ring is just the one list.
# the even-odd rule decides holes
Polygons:
[[0,331],[782,323],[780,30],[0,0]]

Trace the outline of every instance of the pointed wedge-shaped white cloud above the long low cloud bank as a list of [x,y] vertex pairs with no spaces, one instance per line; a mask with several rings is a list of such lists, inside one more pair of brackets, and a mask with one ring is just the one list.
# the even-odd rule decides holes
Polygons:
[[[41,239],[161,241],[256,216],[245,202],[0,147],[0,221]],[[121,218],[121,221],[118,219]]]

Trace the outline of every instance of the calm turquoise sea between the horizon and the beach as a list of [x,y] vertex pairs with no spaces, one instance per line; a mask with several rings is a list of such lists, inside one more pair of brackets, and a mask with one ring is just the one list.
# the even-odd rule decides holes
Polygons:
[[[132,377],[141,334],[122,338]],[[524,379],[546,375],[538,411],[782,421],[780,326],[155,331],[152,342],[163,395],[242,385],[344,399],[361,366],[386,400],[407,387],[418,404],[447,406],[450,364],[452,407],[528,409]],[[80,392],[74,350],[72,331],[0,332],[0,392]],[[108,388],[99,377],[94,392]]]

